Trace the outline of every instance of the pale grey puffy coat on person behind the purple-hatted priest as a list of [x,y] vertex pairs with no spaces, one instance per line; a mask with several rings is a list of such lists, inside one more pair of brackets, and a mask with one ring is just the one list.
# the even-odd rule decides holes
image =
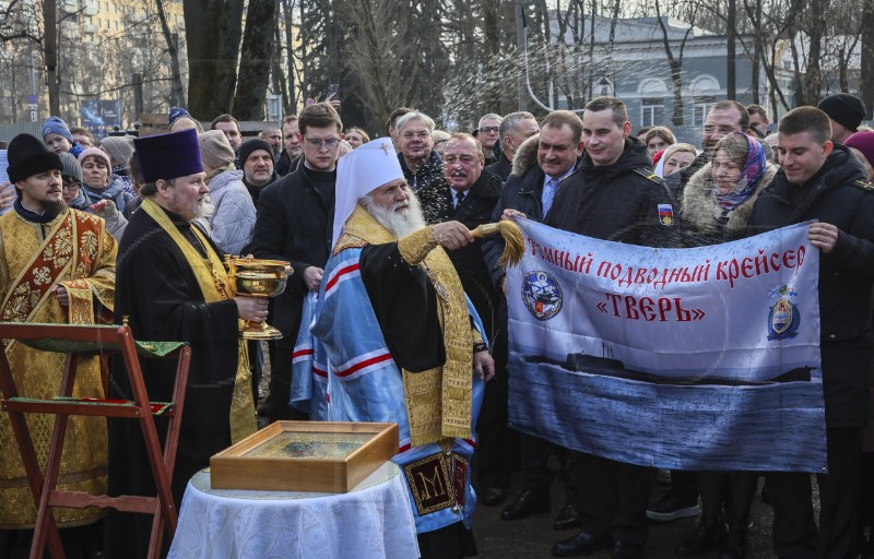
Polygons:
[[212,240],[227,254],[243,254],[255,228],[255,204],[243,185],[241,170],[220,173],[206,185],[212,205]]

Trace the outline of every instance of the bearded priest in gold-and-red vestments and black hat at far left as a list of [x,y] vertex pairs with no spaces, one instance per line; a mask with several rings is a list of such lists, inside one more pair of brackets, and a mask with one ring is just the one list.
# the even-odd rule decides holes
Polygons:
[[[9,178],[17,199],[0,217],[0,320],[95,324],[111,318],[116,241],[102,218],[71,210],[61,198],[58,154],[28,134],[9,144]],[[60,393],[64,355],[38,352],[3,340],[19,395],[50,399]],[[79,361],[73,395],[103,397],[96,357]],[[45,467],[54,420],[28,414],[36,454]],[[36,507],[7,414],[0,414],[0,556],[27,557]],[[106,423],[72,416],[63,447],[58,488],[103,493],[106,489]],[[69,556],[83,552],[97,509],[55,509]],[[23,555],[22,555],[23,554]]]

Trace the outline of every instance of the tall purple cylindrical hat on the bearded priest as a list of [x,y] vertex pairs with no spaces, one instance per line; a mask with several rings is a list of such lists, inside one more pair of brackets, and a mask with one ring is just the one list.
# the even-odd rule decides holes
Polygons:
[[137,138],[133,145],[146,183],[203,173],[198,133],[193,129]]

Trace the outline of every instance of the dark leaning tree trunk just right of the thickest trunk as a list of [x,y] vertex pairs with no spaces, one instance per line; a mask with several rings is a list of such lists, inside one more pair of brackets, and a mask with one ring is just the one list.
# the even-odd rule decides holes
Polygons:
[[234,97],[235,116],[239,120],[264,119],[275,26],[276,0],[249,0]]

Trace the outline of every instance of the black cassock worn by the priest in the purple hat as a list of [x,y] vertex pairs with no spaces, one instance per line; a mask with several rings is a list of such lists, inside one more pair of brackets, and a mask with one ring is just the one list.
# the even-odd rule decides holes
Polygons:
[[[194,236],[193,225],[165,212],[198,253],[222,252]],[[204,236],[205,237],[205,236]],[[238,322],[233,299],[204,302],[193,270],[170,236],[144,211],[131,217],[119,245],[116,284],[116,322],[128,317],[138,341],[180,341],[191,346],[191,367],[185,413],[173,474],[177,510],[188,480],[209,465],[210,456],[231,445],[229,409],[237,371]],[[140,359],[149,397],[169,402],[176,378],[176,359]],[[113,364],[110,397],[131,397],[121,359]],[[161,444],[166,420],[156,418]],[[109,420],[109,493],[156,493],[140,425]],[[151,518],[107,514],[107,558],[145,557]]]

